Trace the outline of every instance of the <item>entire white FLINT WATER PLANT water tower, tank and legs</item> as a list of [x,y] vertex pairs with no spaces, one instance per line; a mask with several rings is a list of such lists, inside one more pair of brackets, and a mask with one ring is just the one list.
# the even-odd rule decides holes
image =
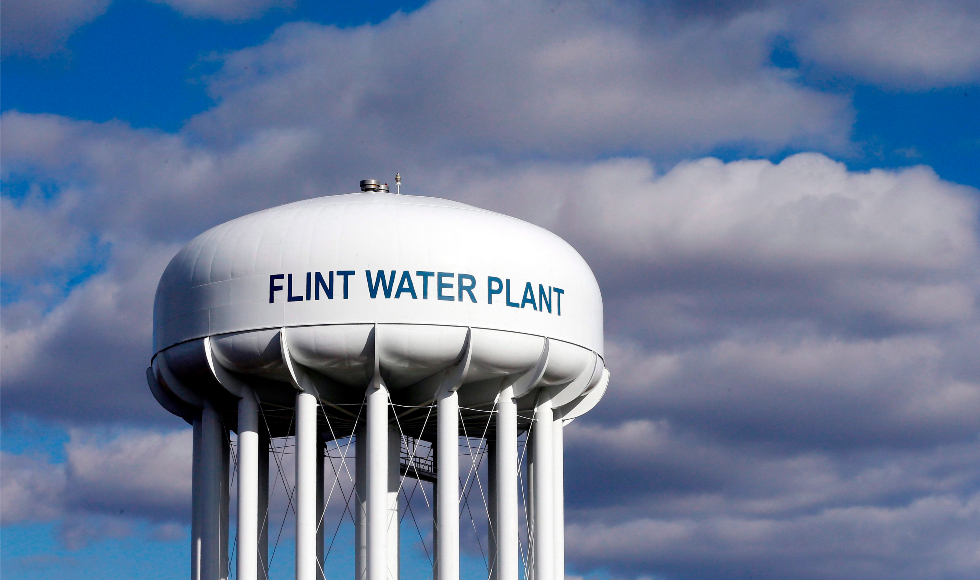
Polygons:
[[[372,180],[361,189],[212,228],[160,280],[147,378],[194,427],[191,578],[229,575],[234,431],[239,580],[268,574],[280,437],[295,438],[297,580],[323,574],[324,449],[340,438],[356,449],[357,580],[398,580],[404,477],[433,482],[434,573],[457,580],[458,445],[477,432],[490,456],[491,575],[518,580],[523,538],[527,575],[561,580],[562,428],[609,380],[592,271],[526,222]],[[406,441],[427,442],[432,460],[420,465]]]

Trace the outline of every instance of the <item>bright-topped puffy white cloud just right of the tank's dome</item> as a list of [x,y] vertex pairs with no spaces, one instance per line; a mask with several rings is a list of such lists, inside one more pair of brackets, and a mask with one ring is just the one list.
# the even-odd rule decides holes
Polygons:
[[529,210],[553,209],[524,210],[527,217],[601,248],[607,259],[941,276],[972,265],[978,253],[973,190],[926,167],[851,172],[805,153],[778,164],[701,159],[666,174],[629,158],[450,179],[465,184],[461,195],[501,208],[531,191],[537,203]]

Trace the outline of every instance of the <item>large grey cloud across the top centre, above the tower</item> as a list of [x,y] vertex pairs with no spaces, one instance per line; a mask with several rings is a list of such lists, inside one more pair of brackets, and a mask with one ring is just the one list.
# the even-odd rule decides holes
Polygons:
[[332,163],[404,146],[582,157],[846,145],[846,99],[768,64],[778,19],[649,23],[637,10],[436,1],[378,26],[288,24],[224,59],[209,81],[220,104],[190,128],[307,128]]

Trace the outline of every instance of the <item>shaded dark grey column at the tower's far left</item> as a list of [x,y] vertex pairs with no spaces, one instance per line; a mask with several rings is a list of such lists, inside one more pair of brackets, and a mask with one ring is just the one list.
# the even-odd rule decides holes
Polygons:
[[191,578],[222,580],[228,574],[228,439],[210,401],[194,423]]

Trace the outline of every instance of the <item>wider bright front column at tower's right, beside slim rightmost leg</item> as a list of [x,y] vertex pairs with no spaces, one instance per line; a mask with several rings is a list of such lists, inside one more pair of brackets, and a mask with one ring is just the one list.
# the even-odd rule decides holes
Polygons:
[[531,438],[534,476],[531,482],[534,512],[534,580],[555,580],[554,510],[555,491],[552,463],[554,462],[554,419],[551,398],[542,393],[534,412]]

